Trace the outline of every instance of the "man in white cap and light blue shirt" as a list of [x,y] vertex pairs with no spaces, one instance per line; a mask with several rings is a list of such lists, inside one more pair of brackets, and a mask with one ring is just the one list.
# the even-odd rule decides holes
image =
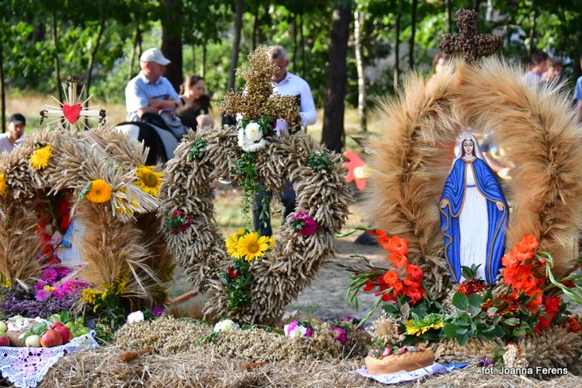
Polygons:
[[140,56],[141,72],[125,88],[127,121],[139,121],[145,112],[176,109],[182,101],[172,84],[163,77],[168,58],[157,48],[147,49]]

